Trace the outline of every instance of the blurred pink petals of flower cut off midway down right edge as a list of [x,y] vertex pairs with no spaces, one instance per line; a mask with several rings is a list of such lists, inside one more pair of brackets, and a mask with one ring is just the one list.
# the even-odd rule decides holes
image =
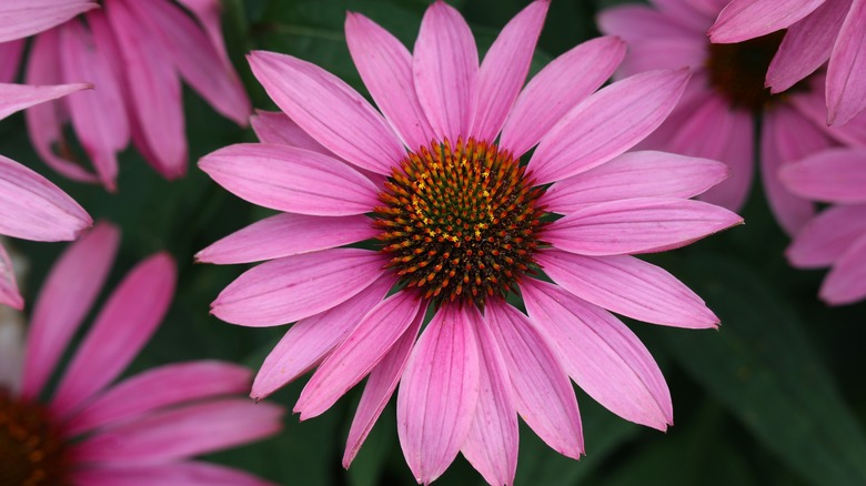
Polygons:
[[832,149],[786,165],[791,191],[833,205],[803,227],[787,250],[802,269],[832,266],[820,297],[832,305],[866,297],[866,149]]

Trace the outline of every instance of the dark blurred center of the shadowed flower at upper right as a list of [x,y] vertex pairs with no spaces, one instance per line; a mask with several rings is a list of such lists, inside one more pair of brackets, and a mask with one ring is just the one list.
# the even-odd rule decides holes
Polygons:
[[[784,93],[771,94],[764,87],[767,68],[776,55],[785,31],[732,44],[709,44],[706,67],[709,84],[731,103],[732,108],[758,112],[778,101]],[[803,82],[791,90],[802,91]]]

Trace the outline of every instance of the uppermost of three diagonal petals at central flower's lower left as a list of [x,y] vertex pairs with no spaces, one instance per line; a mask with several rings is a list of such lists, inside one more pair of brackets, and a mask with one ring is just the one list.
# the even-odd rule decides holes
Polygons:
[[342,304],[298,321],[264,358],[250,396],[262,399],[318,365],[393,285],[394,280],[383,275]]

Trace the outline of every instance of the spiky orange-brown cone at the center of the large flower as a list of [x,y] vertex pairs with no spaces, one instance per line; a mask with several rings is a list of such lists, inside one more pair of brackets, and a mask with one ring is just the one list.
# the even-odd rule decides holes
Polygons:
[[545,223],[533,183],[495,144],[445,140],[395,166],[375,209],[382,252],[406,288],[424,298],[504,297],[531,272]]

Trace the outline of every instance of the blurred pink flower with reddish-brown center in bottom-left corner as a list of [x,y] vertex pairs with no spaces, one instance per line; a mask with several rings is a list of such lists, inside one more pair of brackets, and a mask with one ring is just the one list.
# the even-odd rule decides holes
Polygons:
[[[67,250],[46,281],[23,371],[11,375],[4,367],[0,382],[0,484],[264,484],[189,460],[280,429],[282,407],[231,397],[249,386],[246,368],[188,362],[111,384],[168,310],[175,270],[167,254],[151,256],[121,281],[51,398],[42,398],[51,371],[108,276],[118,240],[117,229],[97,225]],[[13,346],[14,334],[0,333],[0,348]]]

